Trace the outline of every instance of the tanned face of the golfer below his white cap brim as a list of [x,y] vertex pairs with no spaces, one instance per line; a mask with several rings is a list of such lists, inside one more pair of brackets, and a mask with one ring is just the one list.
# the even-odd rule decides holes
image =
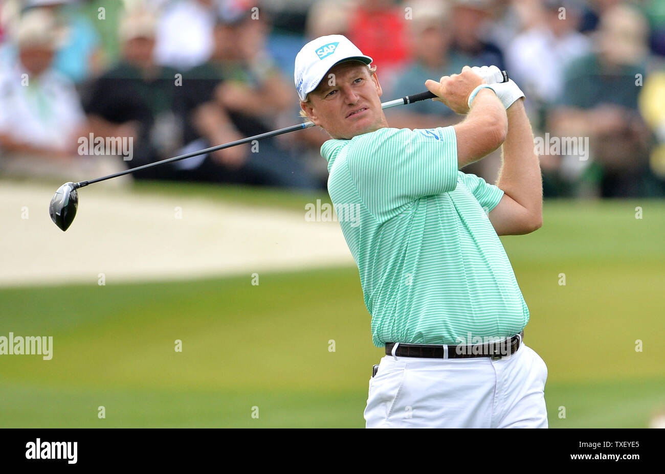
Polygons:
[[309,118],[332,138],[353,138],[386,126],[381,86],[365,64],[342,62],[332,67],[309,95]]

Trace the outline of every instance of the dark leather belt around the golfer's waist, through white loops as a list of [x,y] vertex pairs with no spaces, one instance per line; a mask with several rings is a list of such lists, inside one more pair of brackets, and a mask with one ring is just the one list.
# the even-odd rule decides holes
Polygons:
[[[511,338],[485,344],[469,346],[444,346],[438,344],[402,344],[387,342],[386,355],[398,357],[432,357],[440,359],[459,359],[471,357],[491,357],[493,360],[515,354],[524,339],[524,331]],[[395,347],[397,346],[397,347]]]

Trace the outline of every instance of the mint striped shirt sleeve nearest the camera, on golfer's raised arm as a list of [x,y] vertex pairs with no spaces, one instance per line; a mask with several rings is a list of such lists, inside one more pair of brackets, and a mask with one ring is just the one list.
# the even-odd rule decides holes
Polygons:
[[346,156],[364,205],[379,221],[420,197],[454,191],[458,182],[455,130],[384,128],[360,135]]

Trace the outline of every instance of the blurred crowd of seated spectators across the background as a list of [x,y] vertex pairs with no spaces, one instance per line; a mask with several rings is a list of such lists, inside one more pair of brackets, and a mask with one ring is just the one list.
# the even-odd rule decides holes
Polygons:
[[[295,55],[331,34],[374,59],[384,100],[466,64],[507,70],[546,197],[665,195],[663,0],[3,0],[0,176],[90,179],[295,124]],[[432,101],[386,117],[463,118]],[[327,138],[312,128],[134,178],[323,188]],[[494,182],[499,166],[495,152],[465,171]]]

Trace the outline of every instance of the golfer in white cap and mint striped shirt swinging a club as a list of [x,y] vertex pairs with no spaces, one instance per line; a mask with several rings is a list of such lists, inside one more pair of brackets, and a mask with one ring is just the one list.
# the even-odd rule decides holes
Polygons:
[[[427,80],[466,118],[390,128],[372,59],[346,37],[295,60],[303,114],[331,136],[333,207],[358,265],[374,345],[366,427],[547,427],[545,362],[524,344],[529,308],[499,235],[542,225],[542,181],[515,82],[495,66]],[[419,91],[404,91],[404,93]],[[503,146],[496,185],[460,171]]]

